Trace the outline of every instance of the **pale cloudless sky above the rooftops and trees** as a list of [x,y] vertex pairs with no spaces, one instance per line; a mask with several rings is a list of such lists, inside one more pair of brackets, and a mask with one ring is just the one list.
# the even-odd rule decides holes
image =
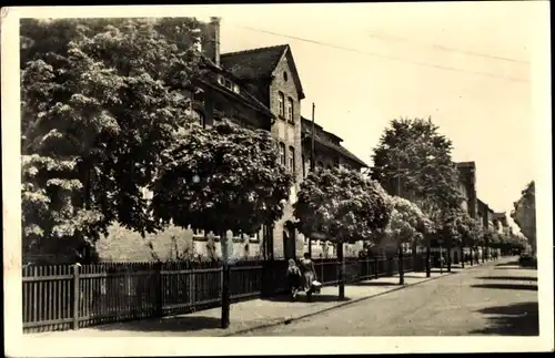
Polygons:
[[508,214],[535,175],[535,11],[528,1],[481,1],[211,14],[222,18],[221,52],[289,43],[306,95],[302,115],[315,103],[315,122],[369,164],[391,120],[431,116],[453,141],[453,158],[476,163],[478,197]]

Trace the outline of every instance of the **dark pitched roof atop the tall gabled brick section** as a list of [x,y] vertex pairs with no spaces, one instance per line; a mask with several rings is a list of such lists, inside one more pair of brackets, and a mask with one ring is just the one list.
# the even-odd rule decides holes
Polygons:
[[302,100],[304,92],[289,44],[222,53],[220,63],[242,80],[270,79],[283,55],[289,57],[293,80]]

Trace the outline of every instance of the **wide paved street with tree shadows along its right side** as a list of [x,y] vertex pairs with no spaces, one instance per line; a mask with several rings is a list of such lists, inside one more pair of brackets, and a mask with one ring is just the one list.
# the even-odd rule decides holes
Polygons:
[[532,336],[537,301],[537,272],[504,259],[243,336]]

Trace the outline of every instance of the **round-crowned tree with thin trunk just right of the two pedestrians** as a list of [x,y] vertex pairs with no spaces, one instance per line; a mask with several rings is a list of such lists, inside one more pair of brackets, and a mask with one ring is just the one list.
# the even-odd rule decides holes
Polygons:
[[387,225],[391,203],[385,191],[362,174],[341,167],[311,172],[294,204],[297,227],[305,236],[322,234],[336,243],[340,298],[344,298],[343,243],[371,239]]

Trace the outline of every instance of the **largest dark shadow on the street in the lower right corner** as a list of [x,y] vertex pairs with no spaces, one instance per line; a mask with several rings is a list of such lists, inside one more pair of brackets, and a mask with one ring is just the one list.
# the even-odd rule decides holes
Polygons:
[[537,303],[487,307],[477,310],[487,315],[488,325],[470,331],[471,335],[538,336],[539,318]]

